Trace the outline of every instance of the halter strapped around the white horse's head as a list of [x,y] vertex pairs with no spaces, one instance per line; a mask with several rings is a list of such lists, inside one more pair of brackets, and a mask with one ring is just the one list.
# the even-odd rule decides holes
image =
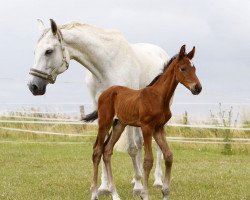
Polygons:
[[58,68],[54,68],[50,73],[43,72],[43,71],[35,69],[35,68],[30,68],[30,72],[29,72],[30,75],[47,80],[51,84],[54,84],[56,82],[56,77],[58,75],[56,72],[58,71],[59,68],[61,68],[64,64],[66,65],[66,70],[69,68],[69,63],[68,63],[66,56],[65,56],[65,48],[62,45],[62,37],[59,34],[57,34],[57,36],[58,36],[58,40],[60,42],[62,55],[63,55],[61,66]]

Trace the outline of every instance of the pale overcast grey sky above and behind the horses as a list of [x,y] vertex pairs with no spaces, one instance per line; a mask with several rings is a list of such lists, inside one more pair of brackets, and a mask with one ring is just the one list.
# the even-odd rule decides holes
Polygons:
[[[44,96],[27,87],[34,47],[40,36],[36,19],[46,26],[79,21],[121,31],[131,43],[162,47],[169,56],[180,46],[191,50],[203,91],[193,96],[183,86],[176,103],[236,102],[250,104],[249,0],[8,0],[0,7],[0,105],[91,104],[86,69],[75,61]],[[71,82],[71,83],[65,83]]]

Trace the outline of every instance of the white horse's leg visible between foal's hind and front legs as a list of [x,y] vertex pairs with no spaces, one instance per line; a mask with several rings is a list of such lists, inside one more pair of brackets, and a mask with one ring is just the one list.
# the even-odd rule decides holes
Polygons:
[[132,184],[134,184],[133,194],[140,195],[143,189],[141,178],[142,178],[142,135],[139,128],[127,127],[126,134],[128,137],[128,153],[133,162],[134,177]]

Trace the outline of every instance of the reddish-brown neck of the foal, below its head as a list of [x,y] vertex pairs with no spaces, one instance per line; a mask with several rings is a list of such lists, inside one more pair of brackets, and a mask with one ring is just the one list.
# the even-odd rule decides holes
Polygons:
[[170,106],[171,99],[173,97],[177,85],[178,81],[176,80],[174,64],[170,64],[170,66],[166,69],[166,71],[152,87],[154,87],[161,93],[161,97],[163,98],[164,104],[166,106]]

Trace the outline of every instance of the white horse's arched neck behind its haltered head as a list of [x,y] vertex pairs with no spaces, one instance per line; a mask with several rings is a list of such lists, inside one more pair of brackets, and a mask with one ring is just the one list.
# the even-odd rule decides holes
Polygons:
[[[86,67],[98,80],[103,79],[103,71],[112,58],[110,40],[98,29],[86,25],[81,28],[61,29],[70,59]],[[100,31],[100,30],[99,30]],[[110,36],[112,38],[112,35]]]

